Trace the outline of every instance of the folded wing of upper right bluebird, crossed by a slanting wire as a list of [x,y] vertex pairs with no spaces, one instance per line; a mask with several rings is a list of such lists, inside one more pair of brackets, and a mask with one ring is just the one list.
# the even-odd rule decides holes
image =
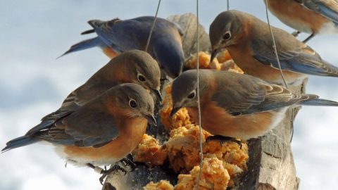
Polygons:
[[[259,34],[260,37],[253,37],[251,50],[256,60],[278,69],[279,66],[273,50],[273,39],[268,31]],[[283,70],[292,70],[309,75],[338,75],[338,68],[324,61],[318,53],[306,44],[299,42],[291,34],[275,27],[273,27],[273,34],[280,66]]]

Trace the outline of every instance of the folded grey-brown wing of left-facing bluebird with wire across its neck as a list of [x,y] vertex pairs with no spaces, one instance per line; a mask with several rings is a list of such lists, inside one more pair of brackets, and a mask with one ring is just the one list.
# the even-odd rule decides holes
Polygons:
[[247,115],[276,110],[314,99],[317,96],[293,94],[288,89],[249,75],[220,74],[216,93],[212,96],[218,106],[232,115]]

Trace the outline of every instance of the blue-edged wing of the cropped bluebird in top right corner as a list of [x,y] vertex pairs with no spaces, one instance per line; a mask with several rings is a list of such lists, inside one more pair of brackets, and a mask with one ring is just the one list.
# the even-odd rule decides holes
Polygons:
[[338,25],[338,1],[337,0],[303,0],[303,6],[325,16]]

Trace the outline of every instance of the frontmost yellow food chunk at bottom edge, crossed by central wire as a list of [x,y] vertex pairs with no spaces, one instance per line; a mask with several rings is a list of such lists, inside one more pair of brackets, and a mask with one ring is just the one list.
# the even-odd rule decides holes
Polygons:
[[[195,166],[189,175],[179,175],[175,190],[195,189],[200,167]],[[226,189],[230,176],[218,158],[206,158],[203,162],[199,189]]]

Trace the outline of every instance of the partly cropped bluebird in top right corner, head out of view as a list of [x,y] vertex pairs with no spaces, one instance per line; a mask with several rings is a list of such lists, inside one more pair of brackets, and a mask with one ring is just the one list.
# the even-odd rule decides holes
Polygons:
[[[265,0],[263,0],[265,3]],[[337,0],[267,0],[268,8],[285,25],[311,34],[338,33]]]

